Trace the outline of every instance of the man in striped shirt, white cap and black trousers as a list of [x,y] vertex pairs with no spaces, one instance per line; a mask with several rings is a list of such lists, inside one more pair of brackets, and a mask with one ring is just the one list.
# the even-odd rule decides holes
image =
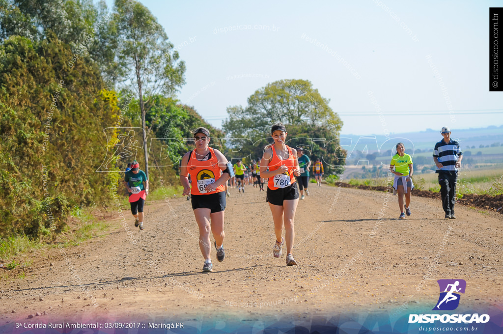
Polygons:
[[446,219],[456,219],[454,215],[454,203],[456,203],[456,180],[458,169],[461,167],[463,152],[459,148],[459,143],[451,139],[451,130],[444,126],[442,128],[444,139],[435,144],[433,150],[433,161],[437,165],[439,175],[440,195],[442,196],[442,207],[445,211]]

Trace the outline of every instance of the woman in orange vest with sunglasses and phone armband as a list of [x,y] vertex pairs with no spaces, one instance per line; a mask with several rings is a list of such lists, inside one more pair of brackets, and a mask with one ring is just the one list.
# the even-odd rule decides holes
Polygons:
[[[196,148],[185,153],[180,166],[180,182],[184,187],[184,196],[192,195],[192,209],[199,226],[199,248],[204,257],[203,272],[211,272],[213,264],[210,257],[210,229],[215,238],[217,260],[225,258],[223,249],[223,220],[225,212],[225,186],[234,176],[232,165],[217,149],[208,146],[210,132],[200,127],[194,131]],[[190,173],[192,183],[187,175]],[[210,222],[211,221],[211,222]]]

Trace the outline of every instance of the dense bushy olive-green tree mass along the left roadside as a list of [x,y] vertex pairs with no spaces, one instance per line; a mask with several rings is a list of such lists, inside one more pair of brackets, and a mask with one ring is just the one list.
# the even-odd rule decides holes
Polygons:
[[40,42],[11,36],[0,45],[1,234],[41,236],[47,207],[60,228],[70,206],[108,202],[117,182],[118,173],[94,173],[107,149],[99,130],[114,124],[116,101],[88,56],[71,72],[69,56],[51,31]]

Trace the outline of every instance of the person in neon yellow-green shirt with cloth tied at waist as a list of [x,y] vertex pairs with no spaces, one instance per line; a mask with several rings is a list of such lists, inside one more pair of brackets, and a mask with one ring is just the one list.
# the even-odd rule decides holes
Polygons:
[[[405,153],[403,143],[396,144],[396,154],[391,158],[389,171],[395,175],[393,188],[398,192],[398,206],[400,207],[399,219],[405,219],[405,213],[410,216],[410,192],[412,184],[412,157]],[[403,210],[403,195],[405,194],[405,213]]]

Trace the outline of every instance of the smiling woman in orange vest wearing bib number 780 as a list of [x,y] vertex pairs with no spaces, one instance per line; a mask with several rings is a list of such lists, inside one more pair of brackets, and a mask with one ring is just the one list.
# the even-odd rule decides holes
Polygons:
[[[300,168],[297,151],[285,145],[287,134],[282,123],[276,123],[272,126],[271,135],[274,144],[268,145],[264,149],[264,156],[260,163],[260,176],[264,179],[269,178],[267,201],[273,214],[274,233],[276,234],[273,255],[275,258],[281,257],[281,248],[286,239],[286,265],[294,266],[297,262],[292,255],[295,238],[293,221],[299,203],[299,190],[294,175],[300,176]],[[285,238],[282,236],[283,225],[285,226]]]

